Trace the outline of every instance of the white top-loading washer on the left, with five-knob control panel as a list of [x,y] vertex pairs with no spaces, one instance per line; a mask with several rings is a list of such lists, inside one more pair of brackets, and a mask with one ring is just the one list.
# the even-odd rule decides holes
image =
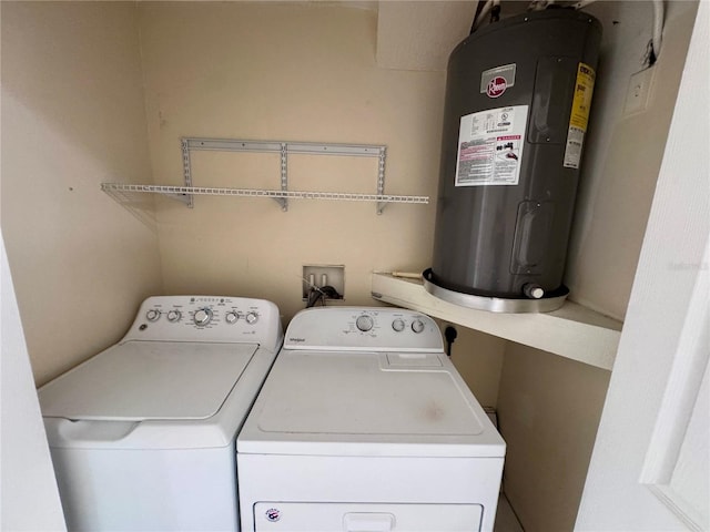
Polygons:
[[235,438],[282,342],[270,301],[151,297],[40,388],[69,529],[239,530]]

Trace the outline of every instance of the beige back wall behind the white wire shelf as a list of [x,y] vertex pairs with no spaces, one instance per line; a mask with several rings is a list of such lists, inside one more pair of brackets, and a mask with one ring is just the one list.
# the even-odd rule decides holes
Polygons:
[[[181,136],[386,144],[386,192],[435,196],[443,72],[376,66],[377,13],[291,3],[140,3],[155,181],[182,181]],[[197,152],[195,186],[278,188],[278,158]],[[374,193],[377,162],[294,156],[293,190]],[[373,305],[369,274],[423,270],[434,204],[197,197],[159,202],[168,293],[273,299],[304,307],[304,264],[345,265],[345,304]]]

